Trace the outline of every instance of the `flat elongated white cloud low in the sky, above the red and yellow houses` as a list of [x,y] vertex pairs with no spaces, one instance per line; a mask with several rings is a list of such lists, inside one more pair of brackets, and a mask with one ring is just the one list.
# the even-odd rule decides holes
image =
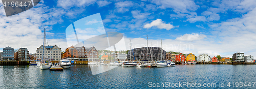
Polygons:
[[194,40],[201,40],[206,38],[203,34],[184,34],[181,37],[177,37],[175,40],[179,41],[194,41]]

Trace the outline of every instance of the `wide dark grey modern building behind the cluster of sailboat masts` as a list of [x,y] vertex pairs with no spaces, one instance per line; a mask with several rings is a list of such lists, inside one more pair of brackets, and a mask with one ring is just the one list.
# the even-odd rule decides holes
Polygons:
[[[131,57],[130,57],[130,53],[131,53]],[[143,58],[143,55],[144,55],[144,58]],[[153,55],[153,58],[151,57],[151,55]],[[127,52],[127,60],[152,61],[153,59],[153,61],[161,61],[161,60],[165,60],[166,58],[165,55],[166,55],[166,52],[160,47],[134,48]]]

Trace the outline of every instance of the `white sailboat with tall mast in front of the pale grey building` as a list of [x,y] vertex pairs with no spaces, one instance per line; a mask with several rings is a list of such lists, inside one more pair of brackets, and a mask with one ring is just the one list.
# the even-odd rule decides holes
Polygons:
[[46,63],[45,62],[45,59],[46,59],[46,55],[44,55],[44,53],[46,53],[45,52],[45,50],[46,50],[46,28],[45,28],[45,31],[44,31],[44,44],[43,44],[43,46],[42,46],[42,64],[40,64],[40,69],[41,70],[45,70],[45,69],[49,69],[49,65],[48,65],[48,63]]

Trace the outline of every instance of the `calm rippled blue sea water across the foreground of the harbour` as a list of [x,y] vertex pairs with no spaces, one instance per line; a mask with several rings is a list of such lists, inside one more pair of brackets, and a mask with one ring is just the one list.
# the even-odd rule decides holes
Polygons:
[[[252,86],[256,82],[255,71],[256,65],[176,65],[117,67],[92,75],[88,65],[72,65],[63,71],[40,70],[37,66],[0,66],[0,88],[157,88],[161,83],[162,87],[158,88],[198,88],[199,83],[201,87],[205,83],[205,88],[256,88],[256,84]],[[181,87],[185,82],[191,86]],[[251,87],[245,87],[245,82]],[[216,87],[208,87],[208,83],[216,83]]]

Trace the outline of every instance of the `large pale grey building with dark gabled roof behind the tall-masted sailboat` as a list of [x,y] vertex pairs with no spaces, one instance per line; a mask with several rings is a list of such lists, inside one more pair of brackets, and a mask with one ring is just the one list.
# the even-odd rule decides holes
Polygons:
[[51,61],[60,61],[61,60],[61,48],[57,45],[48,45],[43,47],[42,45],[39,48],[36,48],[36,60],[39,61],[42,59],[42,50],[44,48],[44,56]]

